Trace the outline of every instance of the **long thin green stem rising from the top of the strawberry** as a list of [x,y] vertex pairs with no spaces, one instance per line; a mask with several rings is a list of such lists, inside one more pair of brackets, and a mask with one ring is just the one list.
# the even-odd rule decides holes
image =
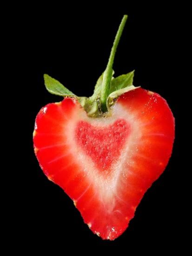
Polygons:
[[121,37],[121,34],[123,32],[123,29],[125,27],[126,24],[126,20],[127,20],[128,16],[124,15],[123,19],[121,20],[121,23],[119,25],[119,29],[117,31],[117,34],[115,36],[115,40],[113,42],[113,47],[111,49],[111,54],[109,56],[109,60],[106,66],[106,70],[104,72],[103,75],[103,82],[102,82],[102,86],[101,86],[101,93],[100,93],[100,102],[101,102],[101,110],[102,112],[106,112],[107,111],[107,97],[109,94],[109,90],[110,90],[110,86],[111,86],[111,80],[112,80],[112,76],[113,76],[113,61],[115,58],[115,53],[119,44],[119,40]]

